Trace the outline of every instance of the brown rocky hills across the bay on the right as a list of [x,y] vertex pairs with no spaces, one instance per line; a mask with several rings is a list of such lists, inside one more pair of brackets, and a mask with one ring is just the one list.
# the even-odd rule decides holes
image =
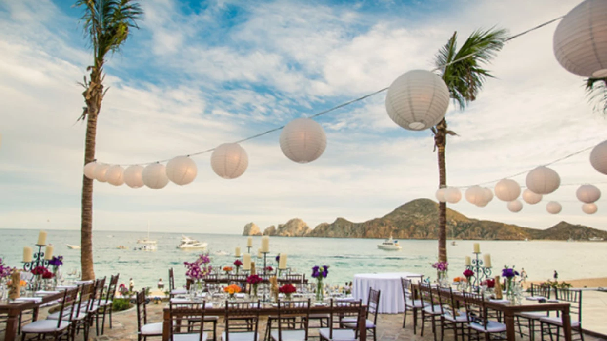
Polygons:
[[[245,227],[246,229],[246,227]],[[268,236],[437,239],[438,203],[430,199],[416,199],[401,205],[381,218],[355,223],[337,218],[333,223],[321,223],[313,230],[301,219],[291,219],[278,228],[271,226],[263,232]],[[582,225],[560,222],[546,230],[520,227],[490,220],[471,219],[447,208],[448,239],[486,240],[588,240],[597,237],[607,240],[607,231]]]

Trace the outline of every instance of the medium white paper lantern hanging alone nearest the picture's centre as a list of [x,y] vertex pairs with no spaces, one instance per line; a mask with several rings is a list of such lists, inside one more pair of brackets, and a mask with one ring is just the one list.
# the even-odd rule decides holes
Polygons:
[[313,119],[294,119],[280,133],[282,153],[300,164],[318,159],[326,147],[327,135],[320,124]]

